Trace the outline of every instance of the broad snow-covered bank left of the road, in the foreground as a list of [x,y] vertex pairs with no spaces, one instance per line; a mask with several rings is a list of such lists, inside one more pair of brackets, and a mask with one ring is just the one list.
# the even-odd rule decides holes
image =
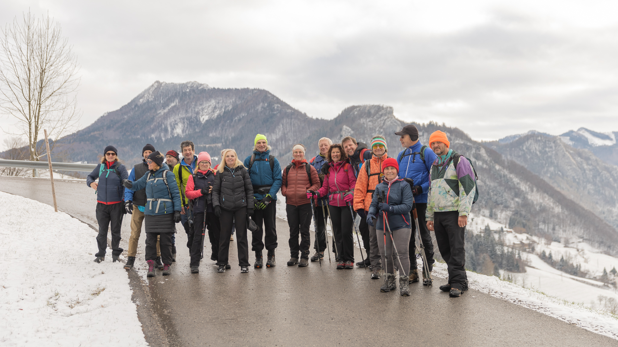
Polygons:
[[4,192],[0,206],[2,346],[148,346],[123,264],[93,262],[88,225]]

